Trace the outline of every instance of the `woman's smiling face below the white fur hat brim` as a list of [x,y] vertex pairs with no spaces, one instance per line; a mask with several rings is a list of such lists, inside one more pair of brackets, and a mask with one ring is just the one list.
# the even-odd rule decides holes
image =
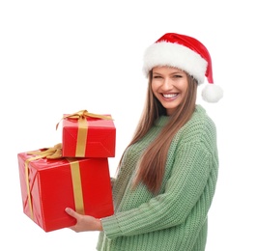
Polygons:
[[152,91],[166,108],[167,115],[173,114],[185,99],[188,79],[185,71],[170,67],[153,69]]

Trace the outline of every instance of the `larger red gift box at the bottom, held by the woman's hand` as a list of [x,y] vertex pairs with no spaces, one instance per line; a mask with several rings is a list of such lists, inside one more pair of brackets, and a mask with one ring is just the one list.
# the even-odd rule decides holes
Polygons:
[[31,153],[17,158],[23,212],[45,232],[76,223],[66,208],[97,218],[113,214],[107,158],[49,159]]

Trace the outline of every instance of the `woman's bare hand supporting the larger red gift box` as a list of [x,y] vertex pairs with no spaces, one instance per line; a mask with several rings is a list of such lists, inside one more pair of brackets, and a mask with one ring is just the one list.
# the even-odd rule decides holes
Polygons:
[[93,216],[77,213],[75,210],[67,208],[65,211],[76,219],[76,224],[70,229],[76,233],[85,231],[102,231],[100,219]]

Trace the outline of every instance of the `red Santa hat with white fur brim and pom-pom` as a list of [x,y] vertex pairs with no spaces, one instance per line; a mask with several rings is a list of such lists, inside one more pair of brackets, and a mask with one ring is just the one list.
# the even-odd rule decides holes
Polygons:
[[212,59],[204,44],[194,38],[166,33],[145,52],[143,70],[148,76],[154,67],[175,67],[185,70],[197,79],[198,84],[208,84],[202,91],[202,97],[208,102],[217,102],[223,97],[222,89],[213,84]]

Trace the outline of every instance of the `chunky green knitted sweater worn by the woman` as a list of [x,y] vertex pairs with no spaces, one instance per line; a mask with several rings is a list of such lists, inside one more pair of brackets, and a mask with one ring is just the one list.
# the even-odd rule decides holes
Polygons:
[[113,183],[115,213],[101,219],[100,251],[203,251],[208,211],[217,181],[218,154],[212,119],[196,105],[170,146],[160,193],[144,184],[131,190],[136,163],[170,118],[162,116],[130,146]]

